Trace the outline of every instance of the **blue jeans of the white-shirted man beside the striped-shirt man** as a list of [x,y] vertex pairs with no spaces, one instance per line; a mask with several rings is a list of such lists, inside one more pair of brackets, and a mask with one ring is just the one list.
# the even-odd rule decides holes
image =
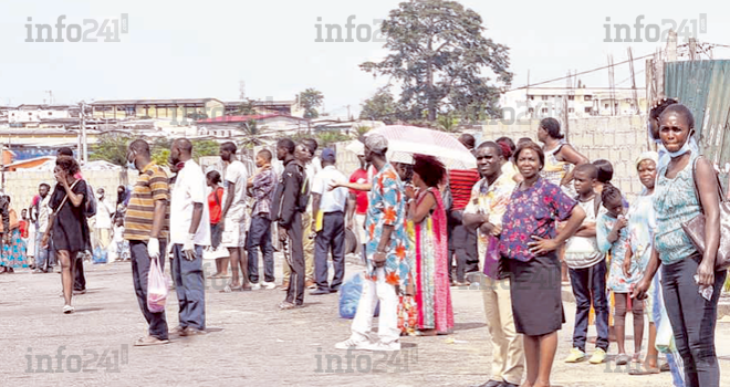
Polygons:
[[180,306],[181,327],[206,328],[206,283],[202,276],[202,247],[195,247],[195,259],[185,259],[182,244],[173,245],[173,279]]

